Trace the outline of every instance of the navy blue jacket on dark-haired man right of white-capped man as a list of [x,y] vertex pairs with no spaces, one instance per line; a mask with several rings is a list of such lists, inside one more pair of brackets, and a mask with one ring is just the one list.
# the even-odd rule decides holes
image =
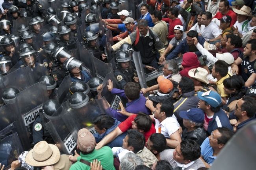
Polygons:
[[[204,42],[205,42],[204,37],[198,36],[198,42],[202,46],[204,46]],[[189,51],[189,46],[187,45],[187,38],[185,38],[184,40],[182,40],[182,42],[180,42],[180,44],[165,59],[166,60],[171,60],[171,59],[176,58],[179,53],[184,54],[184,53],[187,53],[187,52],[190,52],[190,51]],[[202,55],[199,51],[196,51],[195,53],[198,57]]]

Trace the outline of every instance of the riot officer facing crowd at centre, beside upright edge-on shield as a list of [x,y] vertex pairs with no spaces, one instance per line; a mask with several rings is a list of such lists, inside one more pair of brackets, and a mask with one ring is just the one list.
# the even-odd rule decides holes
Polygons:
[[127,82],[139,82],[136,70],[131,64],[132,57],[123,51],[117,52],[115,57],[116,68],[114,69],[114,75],[122,88]]

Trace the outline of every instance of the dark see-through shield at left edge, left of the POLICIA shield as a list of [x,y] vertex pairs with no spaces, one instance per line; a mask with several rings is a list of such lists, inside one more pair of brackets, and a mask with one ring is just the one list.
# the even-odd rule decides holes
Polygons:
[[8,103],[0,108],[0,130],[0,135],[9,135],[17,132],[24,149],[31,148],[17,103]]

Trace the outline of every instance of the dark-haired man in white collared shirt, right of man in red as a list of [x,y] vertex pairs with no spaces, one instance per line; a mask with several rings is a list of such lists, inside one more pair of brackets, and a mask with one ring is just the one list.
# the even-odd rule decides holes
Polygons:
[[153,102],[147,100],[146,106],[153,113],[150,117],[156,122],[156,132],[165,136],[167,146],[175,148],[181,142],[181,137],[179,133],[180,124],[173,114],[173,104],[170,101],[162,101],[155,108]]

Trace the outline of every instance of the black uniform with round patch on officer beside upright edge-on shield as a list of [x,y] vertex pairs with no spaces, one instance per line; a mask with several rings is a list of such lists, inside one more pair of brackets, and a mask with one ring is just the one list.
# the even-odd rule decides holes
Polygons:
[[134,82],[134,77],[137,76],[137,73],[134,67],[130,66],[127,70],[120,68],[114,69],[114,75],[117,82],[124,88],[127,82]]

